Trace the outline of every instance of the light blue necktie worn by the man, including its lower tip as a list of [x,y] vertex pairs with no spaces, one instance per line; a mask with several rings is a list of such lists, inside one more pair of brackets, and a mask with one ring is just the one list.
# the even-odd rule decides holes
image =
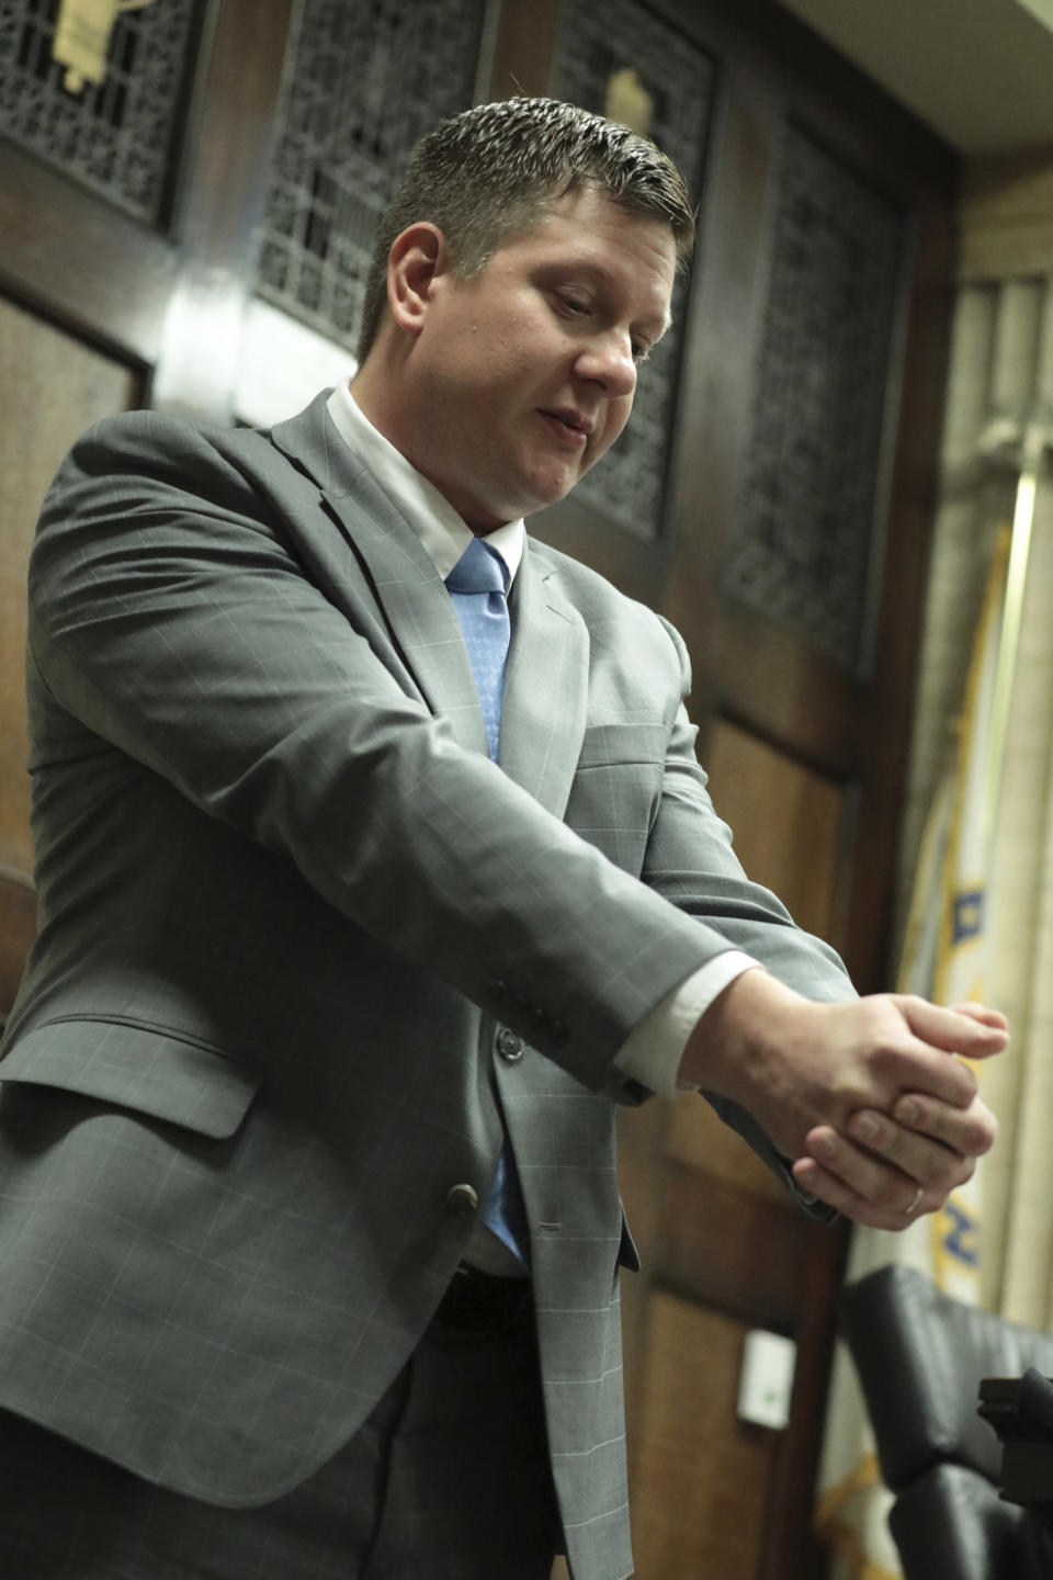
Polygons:
[[[497,760],[500,741],[500,702],[505,687],[505,662],[512,624],[508,621],[507,567],[496,548],[474,537],[456,566],[447,577],[453,611],[461,626],[467,648],[475,689],[486,725],[489,755]],[[519,1176],[516,1174],[512,1146],[505,1144],[497,1158],[497,1172],[489,1187],[489,1196],[482,1206],[480,1218],[519,1261],[530,1261],[530,1234]]]

